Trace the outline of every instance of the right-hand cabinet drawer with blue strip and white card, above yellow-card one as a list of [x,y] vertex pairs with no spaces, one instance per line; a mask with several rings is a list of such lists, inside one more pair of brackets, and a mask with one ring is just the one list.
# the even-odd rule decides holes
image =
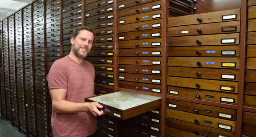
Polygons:
[[240,46],[168,47],[168,56],[239,57],[239,55]]

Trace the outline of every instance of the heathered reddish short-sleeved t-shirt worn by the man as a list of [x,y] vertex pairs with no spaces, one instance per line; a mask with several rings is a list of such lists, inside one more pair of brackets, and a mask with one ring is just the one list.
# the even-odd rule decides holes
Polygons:
[[[91,63],[75,63],[69,56],[56,60],[47,81],[49,89],[66,88],[65,100],[84,102],[94,95],[95,70]],[[59,114],[52,111],[51,125],[54,137],[86,137],[97,130],[97,121],[90,112]]]

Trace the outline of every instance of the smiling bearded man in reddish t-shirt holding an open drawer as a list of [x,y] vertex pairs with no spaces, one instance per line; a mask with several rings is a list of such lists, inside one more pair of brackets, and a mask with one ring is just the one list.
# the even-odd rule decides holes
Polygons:
[[54,137],[97,137],[97,115],[103,108],[98,102],[84,102],[94,96],[94,67],[84,60],[95,39],[90,27],[74,29],[70,54],[58,59],[47,75],[52,98]]

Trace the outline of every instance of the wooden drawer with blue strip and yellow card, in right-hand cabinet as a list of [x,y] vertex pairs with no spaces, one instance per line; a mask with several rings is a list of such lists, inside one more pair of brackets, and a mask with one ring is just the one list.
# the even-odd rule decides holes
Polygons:
[[168,66],[239,69],[239,58],[168,57]]

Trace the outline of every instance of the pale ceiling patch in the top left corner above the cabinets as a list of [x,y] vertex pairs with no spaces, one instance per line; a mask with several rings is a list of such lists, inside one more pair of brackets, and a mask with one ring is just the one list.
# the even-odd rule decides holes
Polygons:
[[[4,2],[3,2],[4,1]],[[0,20],[13,14],[18,9],[24,7],[33,0],[1,0],[0,4]]]

